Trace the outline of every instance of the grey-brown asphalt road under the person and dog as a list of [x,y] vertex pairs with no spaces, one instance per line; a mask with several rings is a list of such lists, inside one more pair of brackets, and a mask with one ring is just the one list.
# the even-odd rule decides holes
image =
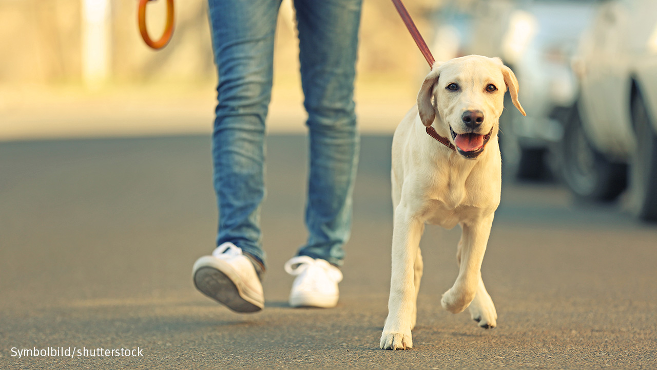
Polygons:
[[[292,309],[283,263],[306,237],[306,140],[269,138],[267,302],[252,315],[191,281],[214,247],[209,137],[0,143],[0,368],[657,369],[657,228],[618,205],[573,205],[557,184],[508,180],[482,269],[498,327],[440,308],[460,230],[430,226],[415,348],[380,350],[390,142],[362,141],[340,304]],[[17,356],[49,347],[88,356]]]

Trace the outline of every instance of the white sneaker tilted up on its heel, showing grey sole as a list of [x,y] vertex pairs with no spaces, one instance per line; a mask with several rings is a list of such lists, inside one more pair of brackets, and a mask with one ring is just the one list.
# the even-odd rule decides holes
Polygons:
[[256,312],[265,307],[256,269],[233,243],[221,244],[212,255],[197,259],[192,277],[196,289],[233,311]]

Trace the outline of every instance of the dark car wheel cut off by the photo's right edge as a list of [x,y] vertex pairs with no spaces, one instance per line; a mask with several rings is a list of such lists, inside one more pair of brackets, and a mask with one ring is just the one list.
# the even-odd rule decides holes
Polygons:
[[630,159],[633,209],[646,221],[657,221],[657,132],[640,93],[632,99],[632,123],[637,145]]

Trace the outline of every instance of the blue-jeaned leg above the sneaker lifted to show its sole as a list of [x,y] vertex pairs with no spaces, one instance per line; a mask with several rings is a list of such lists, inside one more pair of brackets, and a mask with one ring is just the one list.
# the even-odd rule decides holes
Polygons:
[[281,0],[208,0],[219,74],[212,136],[219,208],[217,246],[232,242],[260,262],[265,117]]

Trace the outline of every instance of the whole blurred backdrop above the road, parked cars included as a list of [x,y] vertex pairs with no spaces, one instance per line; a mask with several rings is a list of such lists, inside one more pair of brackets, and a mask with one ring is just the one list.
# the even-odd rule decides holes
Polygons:
[[[562,181],[575,199],[657,219],[657,2],[409,1],[437,60],[498,56],[527,117],[501,119],[505,174]],[[152,38],[166,1],[148,5]],[[217,80],[203,0],[177,4],[152,51],[137,1],[0,0],[0,140],[208,134]],[[284,0],[269,132],[304,132],[294,10]],[[392,134],[428,68],[393,7],[365,1],[356,100],[364,133]],[[637,140],[637,135],[642,140]],[[629,191],[625,192],[625,190]]]

